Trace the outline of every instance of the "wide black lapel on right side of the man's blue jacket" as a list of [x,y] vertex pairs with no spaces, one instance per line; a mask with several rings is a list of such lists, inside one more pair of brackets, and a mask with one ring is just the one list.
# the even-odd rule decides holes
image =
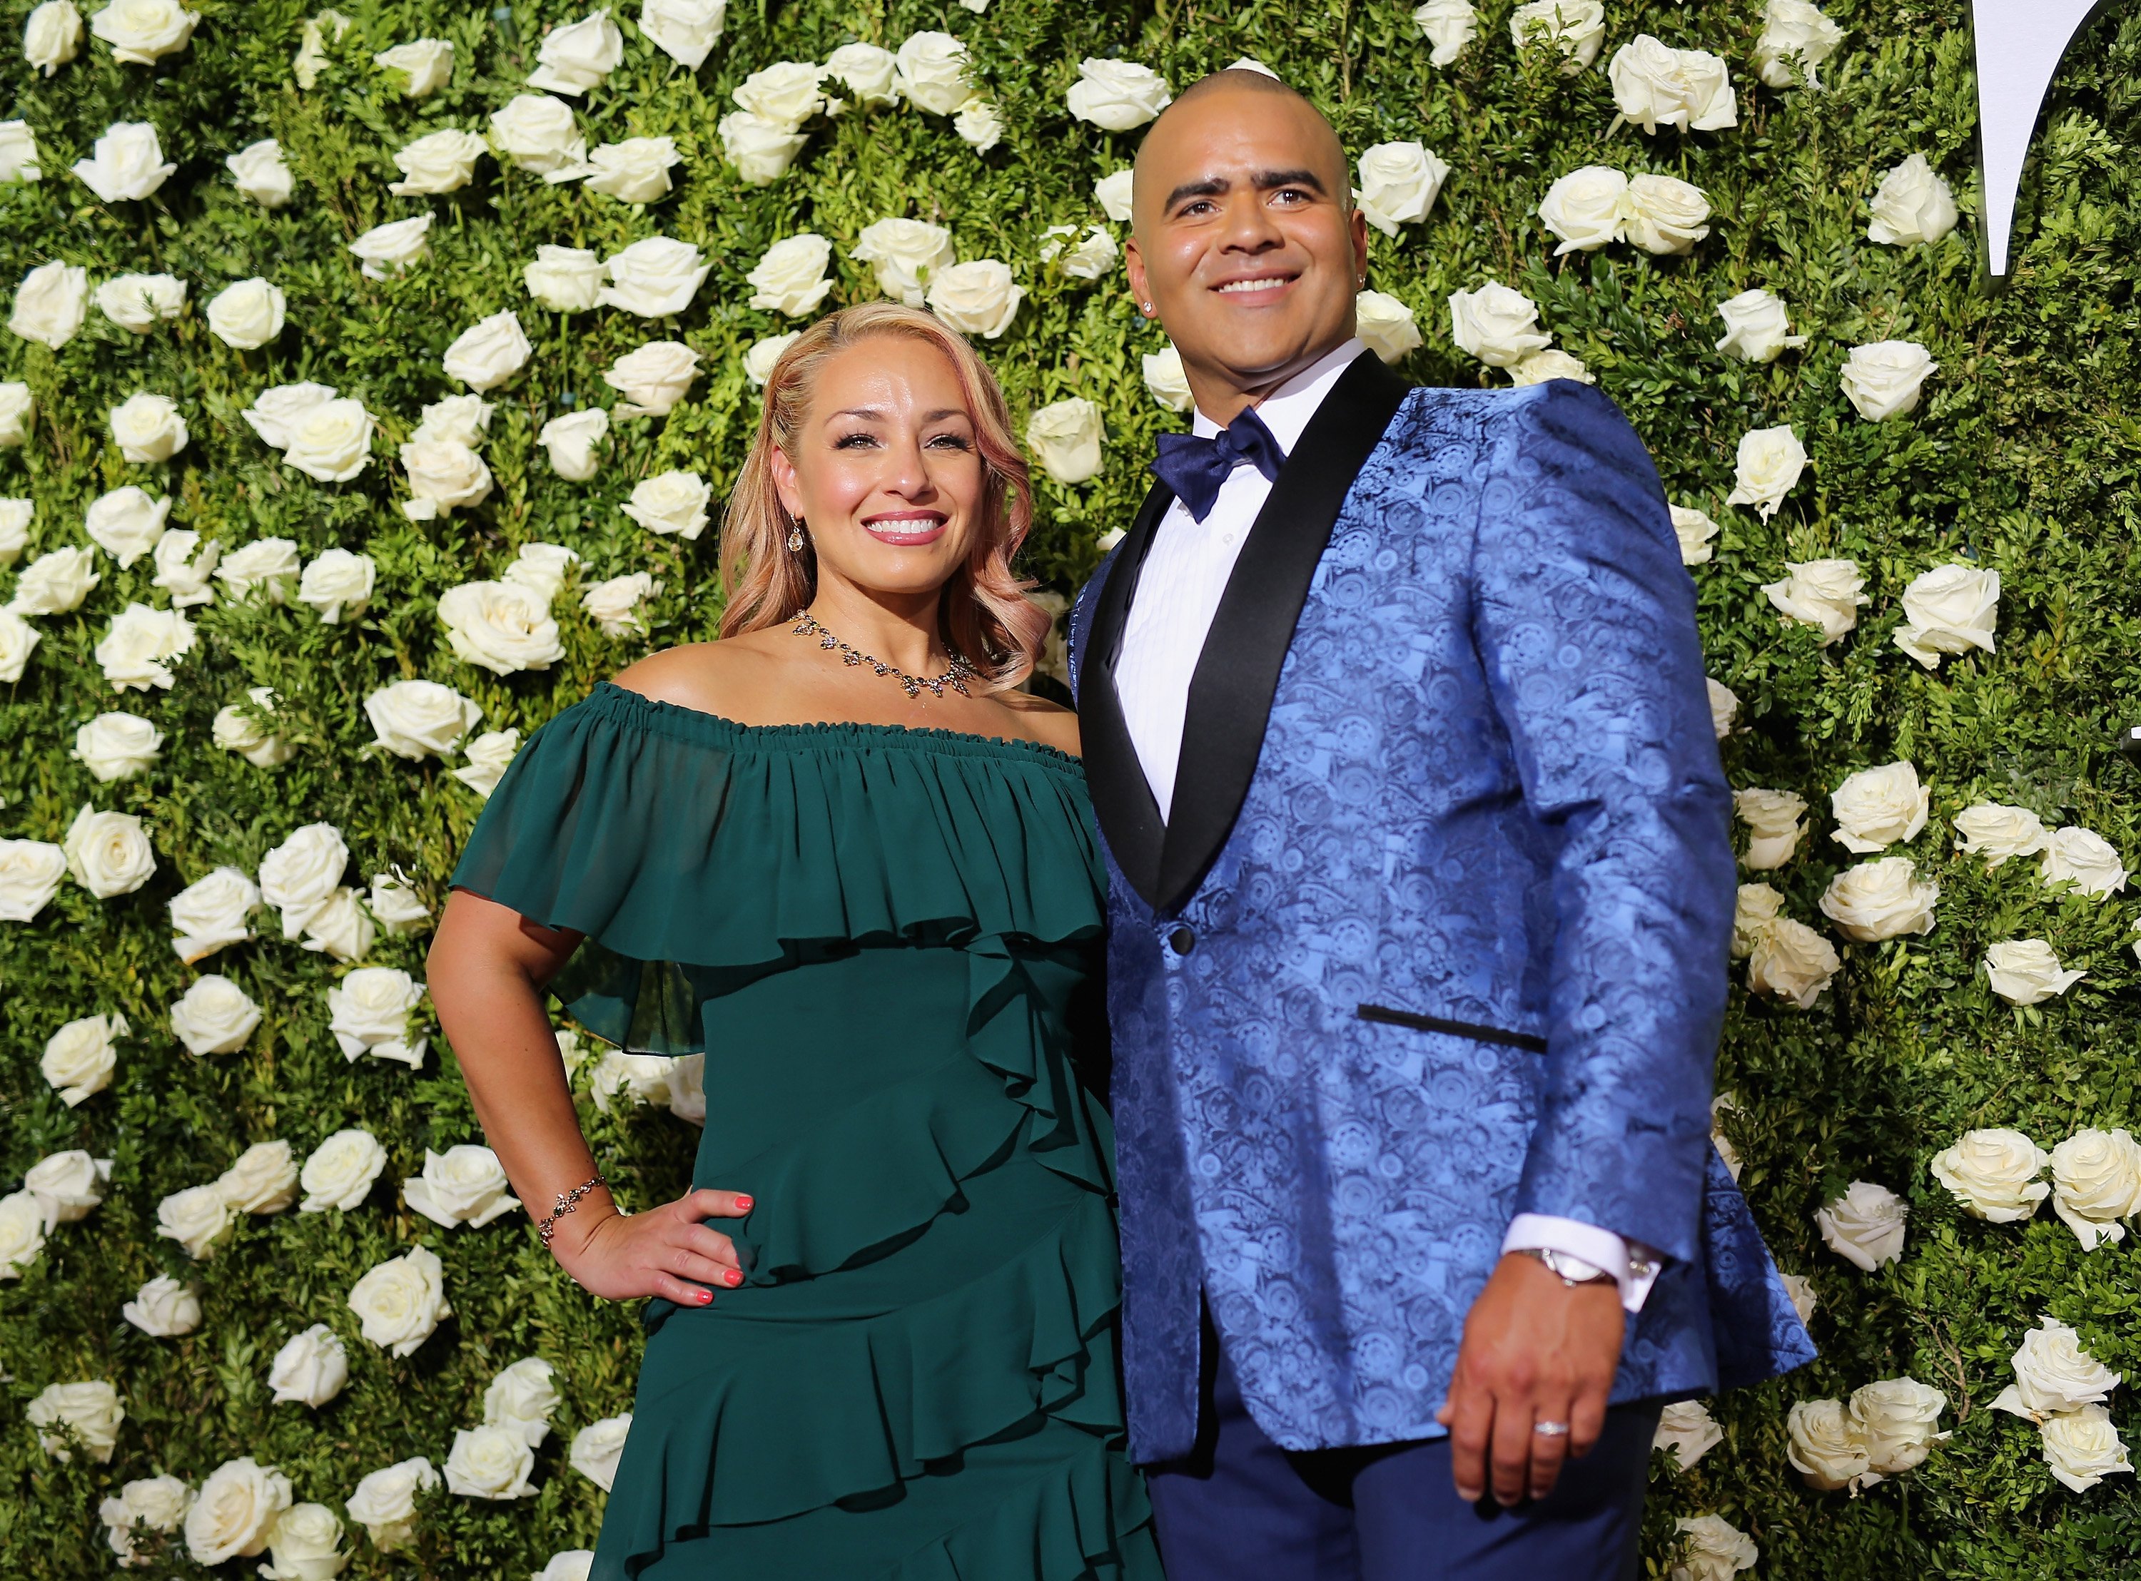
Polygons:
[[[1182,759],[1175,772],[1173,815],[1165,826],[1160,847],[1158,881],[1145,899],[1156,911],[1171,911],[1190,899],[1212,858],[1218,856],[1233,832],[1233,819],[1248,796],[1248,781],[1257,772],[1257,755],[1263,749],[1263,727],[1272,717],[1272,695],[1278,691],[1278,667],[1287,659],[1293,642],[1293,627],[1302,618],[1308,601],[1308,584],[1315,578],[1317,561],[1330,546],[1332,526],[1347,490],[1360,477],[1368,454],[1381,443],[1390,419],[1398,415],[1407,385],[1390,372],[1372,351],[1364,351],[1338,374],[1338,383],[1317,406],[1300,443],[1278,469],[1272,494],[1248,528],[1242,556],[1227,578],[1227,593],[1220,597],[1218,614],[1212,618],[1212,633],[1205,638],[1190,678],[1188,715],[1182,723]],[[1158,490],[1158,498],[1169,494]],[[1156,520],[1152,501],[1139,516],[1148,541]],[[1124,543],[1124,550],[1130,546]],[[1124,580],[1118,567],[1115,578]],[[1109,586],[1113,597],[1113,586]],[[1105,618],[1103,605],[1103,618]],[[1094,623],[1098,635],[1098,620]],[[1120,614],[1115,638],[1120,640]],[[1098,653],[1100,644],[1094,642]],[[1088,659],[1090,665],[1090,659]],[[1107,695],[1113,706],[1113,687],[1094,687],[1092,702]],[[1120,708],[1115,721],[1120,727]],[[1128,774],[1137,781],[1148,807],[1152,789],[1137,766],[1124,734],[1120,751],[1107,738],[1105,757],[1120,757]],[[1088,779],[1092,777],[1094,753],[1088,747]],[[1105,826],[1105,824],[1103,824]],[[1107,828],[1109,843],[1115,832]],[[1118,847],[1118,862],[1124,873]]]

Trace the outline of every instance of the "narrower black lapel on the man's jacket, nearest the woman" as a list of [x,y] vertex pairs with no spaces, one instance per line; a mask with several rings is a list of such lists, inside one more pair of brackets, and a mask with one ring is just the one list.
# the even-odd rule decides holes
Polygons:
[[[1137,762],[1137,747],[1130,745],[1130,727],[1122,719],[1122,700],[1115,695],[1115,655],[1122,650],[1122,627],[1130,610],[1130,593],[1145,569],[1145,554],[1152,550],[1154,533],[1173,494],[1154,483],[1145,503],[1124,533],[1100,586],[1100,601],[1092,612],[1092,627],[1085,631],[1085,653],[1079,655],[1079,736],[1085,751],[1085,787],[1092,794],[1092,809],[1107,834],[1107,849],[1115,866],[1130,879],[1145,903],[1152,903],[1160,881],[1160,847],[1167,826],[1160,822],[1160,804],[1152,800],[1152,785]],[[1244,546],[1246,548],[1246,546]]]

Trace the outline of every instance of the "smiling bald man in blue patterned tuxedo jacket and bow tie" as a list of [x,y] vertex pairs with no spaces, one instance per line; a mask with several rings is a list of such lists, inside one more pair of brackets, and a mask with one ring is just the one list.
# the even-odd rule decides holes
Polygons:
[[1813,1354],[1709,1140],[1730,796],[1657,473],[1586,385],[1364,351],[1270,77],[1182,94],[1133,212],[1197,421],[1070,663],[1169,1577],[1634,1575],[1664,1401]]

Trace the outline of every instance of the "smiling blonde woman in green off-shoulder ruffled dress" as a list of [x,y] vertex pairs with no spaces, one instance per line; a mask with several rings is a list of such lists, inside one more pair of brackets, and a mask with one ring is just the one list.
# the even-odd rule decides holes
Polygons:
[[[1160,1572],[1073,1048],[1100,858],[1077,721],[1011,689],[1047,633],[1028,522],[957,334],[811,325],[730,501],[722,642],[537,730],[454,869],[430,993],[484,1130],[574,1279],[653,1296],[599,1581]],[[546,988],[707,1050],[683,1198],[617,1213]]]

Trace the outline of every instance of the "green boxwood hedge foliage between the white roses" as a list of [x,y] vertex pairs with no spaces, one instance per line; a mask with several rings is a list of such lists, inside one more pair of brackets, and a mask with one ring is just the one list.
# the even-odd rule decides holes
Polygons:
[[[1094,180],[1124,167],[1137,143],[1137,133],[1073,120],[1064,92],[1085,56],[1141,60],[1180,90],[1244,53],[1308,92],[1351,152],[1417,139],[1449,163],[1426,222],[1396,240],[1375,233],[1370,248],[1370,285],[1411,304],[1426,336],[1407,366],[1415,381],[1499,381],[1456,349],[1445,302],[1488,278],[1512,285],[1537,300],[1557,344],[1634,419],[1670,496],[1724,524],[1715,558],[1694,578],[1711,672],[1743,702],[1726,762],[1736,785],[1796,789],[1813,804],[1801,854],[1768,875],[1788,914],[1822,924],[1816,901],[1852,860],[1828,839],[1826,817],[1846,772],[1908,757],[1933,794],[1931,822],[1901,847],[1942,886],[1931,933],[1843,946],[1843,971],[1807,1012],[1734,988],[1719,1089],[1736,1093],[1738,1110],[1726,1130],[1779,1262],[1820,1294],[1822,1361],[1715,1401],[1726,1440],[1700,1465],[1672,1470],[1659,1457],[1649,1570],[1672,1564],[1674,1519],[1700,1513],[1747,1530],[1768,1575],[2100,1577],[2137,1560],[2135,1478],[2072,1495],[2043,1465],[2032,1427],[1989,1410],[2021,1333],[2047,1311],[2111,1367],[2141,1369],[2137,1252],[2124,1243],[2083,1254],[2049,1213],[2008,1226],[1970,1219],[1931,1181],[1927,1160],[1970,1127],[2015,1125],[2051,1147],[2083,1125],[2141,1119],[2130,896],[2049,894],[2028,860],[1987,873],[1953,854],[1950,832],[1959,809],[1989,798],[2030,807],[2049,826],[2085,824],[2141,856],[2137,770],[2115,751],[2117,727],[2141,719],[2141,15],[2102,9],[2068,53],[2025,180],[2013,274],[1993,285],[1978,261],[1972,41],[1955,6],[1833,0],[1848,36],[1820,68],[1820,90],[1756,79],[1756,0],[1616,0],[1606,56],[1580,77],[1516,53],[1509,0],[1482,0],[1479,39],[1447,68],[1428,64],[1411,6],[1390,0],[993,0],[983,15],[946,0],[734,0],[726,36],[696,73],[640,39],[636,9],[623,6],[623,64],[576,113],[591,145],[668,135],[683,154],[677,190],[632,208],[492,160],[450,197],[385,190],[396,148],[441,126],[480,131],[522,92],[544,30],[582,15],[578,6],[340,0],[349,28],[338,39],[328,30],[317,83],[300,90],[291,58],[306,4],[195,4],[199,32],[182,53],[116,64],[90,41],[49,79],[15,45],[30,0],[0,4],[6,118],[28,120],[45,156],[41,182],[0,188],[0,278],[64,259],[92,285],[139,270],[191,287],[188,310],[148,336],[94,310],[60,351],[0,336],[0,370],[28,381],[39,402],[30,443],[0,454],[0,492],[36,501],[32,556],[83,543],[88,501],[135,481],[171,498],[173,524],[225,550],[270,535],[293,539],[306,558],[362,548],[379,563],[379,593],[360,620],[332,627],[295,603],[218,597],[193,612],[201,640],[169,691],[113,695],[92,646],[128,601],[169,599],[150,584],[148,558],[120,569],[98,556],[103,580],[88,603],[36,620],[43,642],[19,685],[0,693],[0,836],[58,841],[90,802],[141,815],[156,849],[154,877],[131,894],[96,901],[66,884],[34,922],[0,924],[0,1179],[13,1185],[60,1149],[113,1160],[103,1207],[60,1226],[43,1256],[0,1286],[0,1572],[105,1575],[113,1557],[96,1521],[103,1493],[158,1472],[197,1485],[238,1455],[283,1468],[300,1500],[338,1510],[368,1470],[409,1455],[443,1463],[454,1429],[480,1418],[486,1380],[525,1354],[557,1365],[565,1399],[537,1455],[537,1493],[510,1504],[428,1495],[415,1547],[392,1557],[351,1523],[349,1575],[514,1577],[555,1549],[591,1545],[602,1493],[565,1465],[563,1444],[629,1408],[634,1311],[572,1286],[522,1215],[443,1232],[407,1211],[398,1181],[417,1172],[424,1149],[477,1140],[452,1050],[435,1035],[422,1070],[345,1061],[328,1035],[325,988],[347,967],[285,943],[272,914],[259,939],[199,967],[238,980],[263,1006],[263,1025],[242,1055],[188,1057],[167,1008],[195,969],[173,956],[165,903],[218,864],[257,871],[293,828],[323,819],[345,832],[355,884],[400,864],[439,905],[480,800],[452,764],[383,755],[364,719],[366,693],[435,678],[480,702],[484,727],[529,732],[640,653],[711,635],[715,535],[651,537],[619,505],[638,479],[668,469],[696,469],[717,492],[732,481],[756,417],[741,355],[794,327],[749,308],[743,276],[796,231],[837,244],[829,304],[874,295],[871,272],[846,252],[880,216],[940,220],[961,259],[1013,265],[1030,295],[1011,329],[985,342],[1013,409],[1023,419],[1077,394],[1107,419],[1098,479],[1038,486],[1028,565],[1047,586],[1073,590],[1098,558],[1096,539],[1135,509],[1154,434],[1180,417],[1143,389],[1139,357],[1163,342],[1122,280],[1073,280],[1038,259],[1045,227],[1103,222]],[[854,39],[897,47],[923,28],[968,43],[976,81],[1002,111],[998,148],[976,152],[946,118],[897,105],[814,124],[809,148],[771,186],[747,186],[724,163],[715,122],[747,73],[822,60]],[[1614,126],[1604,64],[1638,32],[1724,56],[1738,124],[1655,137]],[[417,36],[452,41],[454,71],[435,96],[409,101],[370,58]],[[107,205],[69,175],[118,120],[152,122],[178,165],[148,201]],[[233,190],[223,169],[261,137],[280,139],[298,180],[295,201],[278,212]],[[1867,240],[1869,195],[1914,152],[1953,182],[1963,222],[1933,246],[1878,246]],[[1627,246],[1552,257],[1539,197],[1591,163],[1696,182],[1715,210],[1711,235],[1689,257]],[[437,216],[430,261],[362,278],[351,237],[422,212]],[[612,310],[567,319],[522,289],[537,244],[608,255],[657,233],[696,242],[713,265],[670,323]],[[208,334],[201,304],[250,274],[283,287],[289,325],[272,347],[233,351]],[[1715,304],[1749,287],[1790,304],[1792,327],[1809,336],[1803,351],[1753,366],[1713,349]],[[492,396],[486,456],[497,490],[477,509],[409,522],[396,509],[405,483],[394,445],[426,402],[458,394],[439,366],[445,344],[501,308],[520,312],[535,355]],[[619,421],[593,481],[559,479],[535,430],[606,402],[599,372],[662,336],[704,357],[689,398],[666,421]],[[1920,340],[1940,372],[1918,411],[1869,424],[1843,400],[1837,370],[1850,347],[1882,338]],[[358,479],[308,481],[240,419],[259,389],[300,379],[379,415],[373,464]],[[171,464],[131,466],[109,441],[107,409],[137,389],[176,398],[186,415],[193,443]],[[1738,436],[1771,424],[1792,424],[1813,460],[1783,509],[1762,520],[1724,496]],[[454,657],[435,601],[447,586],[497,575],[527,541],[584,556],[557,599],[565,659],[499,678]],[[1871,603],[1852,635],[1822,648],[1813,633],[1783,627],[1760,584],[1788,558],[1833,554],[1865,567]],[[1925,672],[1891,644],[1899,597],[1910,578],[1957,556],[2002,575],[1998,653]],[[662,580],[651,631],[610,640],[574,588],[636,569]],[[13,573],[0,575],[11,584]],[[274,770],[210,742],[214,712],[257,685],[276,689],[283,734],[298,745]],[[152,719],[165,749],[148,772],[103,785],[71,745],[77,725],[109,708]],[[2006,937],[2045,937],[2087,978],[2040,1008],[2013,1010],[1978,969],[1985,948]],[[368,963],[422,976],[424,937],[381,937]],[[39,1053],[60,1023],[96,1012],[122,1012],[133,1031],[111,1087],[69,1108],[41,1078]],[[584,1119],[629,1202],[664,1200],[687,1179],[696,1134],[670,1115],[587,1106]],[[362,1209],[246,1217],[199,1264],[154,1234],[158,1198],[214,1179],[248,1142],[280,1136],[302,1155],[343,1125],[368,1127],[392,1155]],[[1854,1179],[1882,1181],[1912,1204],[1908,1252],[1878,1275],[1826,1252],[1811,1224]],[[398,1361],[358,1337],[345,1296],[364,1269],[415,1243],[445,1260],[454,1316]],[[197,1333],[150,1339],[120,1320],[122,1301],[156,1273],[201,1288]],[[313,1322],[347,1341],[349,1388],[317,1412],[270,1406],[268,1359]],[[1786,1463],[1788,1406],[1901,1373],[1948,1393],[1942,1427],[1953,1436],[1923,1468],[1858,1498],[1809,1491]],[[26,1425],[28,1399],[90,1378],[124,1397],[116,1455],[47,1457]],[[2113,1412],[2128,1433],[2141,1425],[2124,1388]],[[199,1572],[182,1542],[150,1551],[156,1575]]]

